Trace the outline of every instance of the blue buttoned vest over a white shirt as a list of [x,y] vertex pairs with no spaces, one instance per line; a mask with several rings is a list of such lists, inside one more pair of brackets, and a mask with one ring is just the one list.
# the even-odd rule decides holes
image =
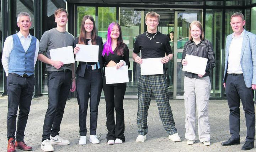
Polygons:
[[36,51],[36,38],[31,36],[30,46],[25,52],[17,34],[12,35],[14,48],[11,50],[9,60],[9,73],[15,73],[20,76],[34,74],[34,55]]

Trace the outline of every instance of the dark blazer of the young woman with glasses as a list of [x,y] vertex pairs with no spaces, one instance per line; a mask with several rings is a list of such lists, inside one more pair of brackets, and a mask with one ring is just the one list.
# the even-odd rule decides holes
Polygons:
[[[79,37],[75,38],[74,44],[73,44],[73,48],[76,47],[76,44],[78,44],[78,40]],[[99,46],[99,63],[100,63],[100,69],[101,69],[101,74],[103,73],[102,69],[103,69],[103,62],[102,62],[102,49],[103,49],[103,43],[102,43],[102,37],[97,36],[96,37],[96,43]],[[86,62],[79,62],[78,67],[76,69],[76,74],[84,77],[85,74],[85,70],[86,70]]]

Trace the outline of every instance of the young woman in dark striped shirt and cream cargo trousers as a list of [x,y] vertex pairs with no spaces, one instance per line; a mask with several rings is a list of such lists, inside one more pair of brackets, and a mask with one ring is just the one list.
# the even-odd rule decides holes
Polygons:
[[215,66],[215,57],[212,43],[204,38],[202,24],[193,21],[189,27],[189,41],[184,45],[182,53],[182,65],[188,61],[186,54],[207,58],[207,66],[204,75],[185,72],[184,100],[186,119],[185,138],[187,144],[192,145],[196,138],[196,108],[198,113],[198,136],[205,146],[210,145],[210,124],[208,118],[208,102],[211,91],[210,70]]

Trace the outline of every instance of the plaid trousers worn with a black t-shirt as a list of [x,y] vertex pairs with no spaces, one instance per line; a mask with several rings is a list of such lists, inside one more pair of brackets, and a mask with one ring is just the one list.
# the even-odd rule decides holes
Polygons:
[[138,113],[137,124],[140,135],[148,133],[148,108],[151,94],[155,95],[160,119],[169,135],[177,132],[169,103],[168,88],[165,75],[140,75],[138,80]]

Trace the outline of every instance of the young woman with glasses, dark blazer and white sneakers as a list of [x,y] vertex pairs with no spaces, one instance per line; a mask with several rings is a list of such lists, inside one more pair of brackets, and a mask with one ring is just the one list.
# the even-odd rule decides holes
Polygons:
[[100,103],[102,91],[102,38],[96,35],[96,26],[94,18],[91,15],[85,15],[81,22],[80,36],[74,41],[74,54],[78,53],[79,47],[76,44],[98,45],[98,62],[79,62],[76,70],[77,81],[76,91],[79,105],[79,145],[86,144],[86,115],[88,100],[90,98],[90,142],[92,144],[100,143],[96,136],[98,105]]

